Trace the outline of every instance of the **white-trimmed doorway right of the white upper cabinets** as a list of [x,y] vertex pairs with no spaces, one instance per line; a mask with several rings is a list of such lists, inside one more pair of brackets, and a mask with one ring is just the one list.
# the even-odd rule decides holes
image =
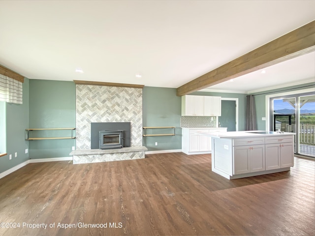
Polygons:
[[221,98],[221,117],[219,127],[227,127],[227,131],[238,131],[238,98]]

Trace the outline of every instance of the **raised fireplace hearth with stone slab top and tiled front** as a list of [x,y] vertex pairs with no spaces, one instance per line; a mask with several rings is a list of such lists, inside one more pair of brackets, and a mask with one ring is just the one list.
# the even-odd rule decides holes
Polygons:
[[106,161],[133,160],[145,157],[146,147],[128,147],[119,149],[84,149],[70,152],[73,164],[96,163]]

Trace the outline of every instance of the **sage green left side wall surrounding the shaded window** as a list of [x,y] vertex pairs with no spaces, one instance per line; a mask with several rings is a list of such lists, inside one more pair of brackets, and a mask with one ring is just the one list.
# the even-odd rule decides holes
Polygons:
[[[5,116],[7,155],[0,157],[0,173],[29,159],[29,153],[25,153],[25,149],[29,148],[29,142],[25,140],[25,129],[29,126],[29,79],[25,78],[23,83],[23,104],[5,102],[2,109],[3,107],[5,114],[1,113],[1,119],[3,121]],[[15,152],[18,154],[17,157],[14,155]]]

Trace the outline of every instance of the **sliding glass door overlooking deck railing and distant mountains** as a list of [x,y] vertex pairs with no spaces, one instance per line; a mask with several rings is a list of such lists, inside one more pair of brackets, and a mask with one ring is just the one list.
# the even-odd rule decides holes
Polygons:
[[314,93],[271,98],[270,121],[270,130],[296,133],[295,153],[315,157]]

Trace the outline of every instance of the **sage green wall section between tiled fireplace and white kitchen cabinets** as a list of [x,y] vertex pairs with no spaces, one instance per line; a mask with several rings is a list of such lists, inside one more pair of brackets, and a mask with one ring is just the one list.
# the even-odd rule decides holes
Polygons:
[[[149,151],[182,149],[181,97],[176,89],[143,88],[143,126],[175,126],[175,136],[143,137],[143,146]],[[147,132],[169,133],[172,130],[147,130]],[[155,146],[158,142],[158,146]]]

